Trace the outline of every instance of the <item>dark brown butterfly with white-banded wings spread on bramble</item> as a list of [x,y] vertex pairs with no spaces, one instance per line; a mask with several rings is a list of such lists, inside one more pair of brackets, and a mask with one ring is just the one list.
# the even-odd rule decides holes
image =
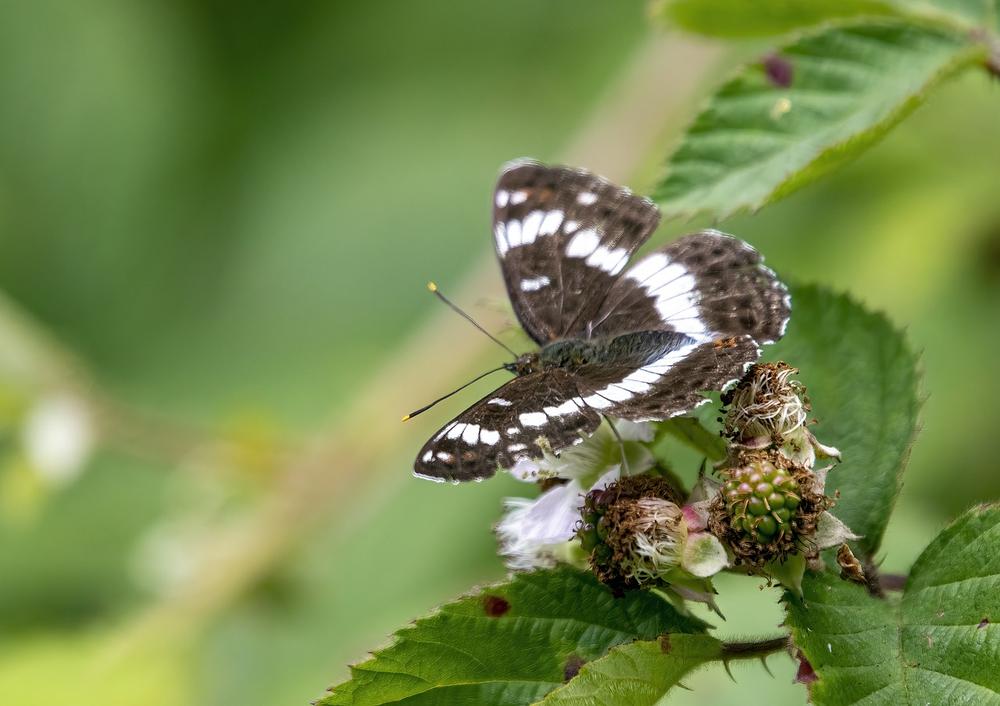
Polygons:
[[515,377],[445,424],[414,473],[481,480],[580,443],[602,418],[683,414],[742,376],[784,333],[788,290],[763,258],[715,230],[632,262],[660,212],[581,169],[507,164],[493,237],[514,313],[538,350]]

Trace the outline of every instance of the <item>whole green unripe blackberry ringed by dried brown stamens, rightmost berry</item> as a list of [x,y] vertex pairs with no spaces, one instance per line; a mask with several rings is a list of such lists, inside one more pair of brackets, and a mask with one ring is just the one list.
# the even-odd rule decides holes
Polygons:
[[770,450],[744,453],[722,474],[709,528],[736,564],[759,568],[811,546],[830,505],[811,471]]

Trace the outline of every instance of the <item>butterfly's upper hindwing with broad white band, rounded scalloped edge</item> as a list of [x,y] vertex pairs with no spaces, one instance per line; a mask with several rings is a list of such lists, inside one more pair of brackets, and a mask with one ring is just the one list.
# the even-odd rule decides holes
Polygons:
[[594,335],[637,330],[695,338],[781,337],[788,291],[750,245],[718,231],[684,236],[636,262],[615,282]]

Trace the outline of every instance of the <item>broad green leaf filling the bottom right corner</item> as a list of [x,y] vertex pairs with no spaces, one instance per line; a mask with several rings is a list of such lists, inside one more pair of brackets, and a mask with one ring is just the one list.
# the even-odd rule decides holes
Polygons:
[[818,681],[811,703],[1000,704],[1000,506],[980,506],[917,560],[902,598],[833,574],[788,601],[792,637]]

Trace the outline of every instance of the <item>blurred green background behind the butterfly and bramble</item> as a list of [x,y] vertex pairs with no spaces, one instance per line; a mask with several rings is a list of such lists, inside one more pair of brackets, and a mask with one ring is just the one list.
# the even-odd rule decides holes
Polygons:
[[[408,427],[416,392],[384,409],[369,394],[360,428],[356,396],[389,366],[416,380],[430,360],[457,382],[497,360],[455,361],[478,336],[461,324],[420,360],[403,342],[439,315],[428,279],[458,290],[490,257],[501,163],[625,159],[613,176],[650,188],[738,57],[701,47],[651,71],[689,40],[647,16],[637,0],[0,4],[3,703],[304,704],[393,629],[503,576],[490,527],[525,487],[410,477],[422,435],[475,392]],[[1000,496],[998,108],[997,85],[968,76],[835,176],[722,224],[923,351],[889,570]],[[487,318],[489,273],[462,302]],[[359,457],[286,480],[286,459],[345,428],[353,446],[333,448]],[[310,522],[281,521],[327,478]],[[776,628],[759,584],[725,579],[722,634]],[[671,703],[803,703],[791,660],[771,667],[738,684],[706,670]]]

